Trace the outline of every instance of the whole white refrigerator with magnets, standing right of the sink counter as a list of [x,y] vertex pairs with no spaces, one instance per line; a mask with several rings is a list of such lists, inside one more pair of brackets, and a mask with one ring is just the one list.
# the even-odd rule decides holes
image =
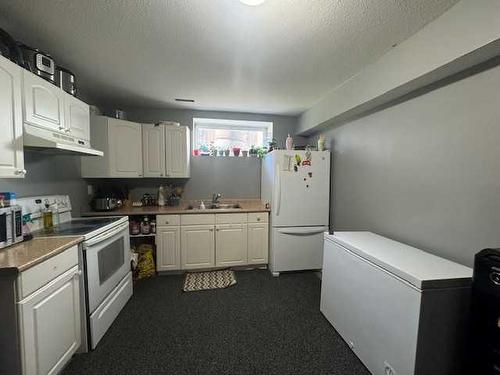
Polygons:
[[271,207],[269,269],[321,269],[330,212],[330,152],[275,150],[262,162],[261,199]]

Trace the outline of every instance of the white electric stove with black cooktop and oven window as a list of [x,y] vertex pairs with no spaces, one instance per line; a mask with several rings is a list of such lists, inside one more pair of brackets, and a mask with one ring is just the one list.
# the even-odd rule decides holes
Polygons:
[[[43,229],[41,212],[46,203],[57,205],[50,229]],[[31,216],[33,236],[84,238],[79,259],[81,309],[86,319],[82,321],[80,351],[95,349],[133,294],[128,217],[73,218],[67,195],[19,198],[18,204],[23,215]]]

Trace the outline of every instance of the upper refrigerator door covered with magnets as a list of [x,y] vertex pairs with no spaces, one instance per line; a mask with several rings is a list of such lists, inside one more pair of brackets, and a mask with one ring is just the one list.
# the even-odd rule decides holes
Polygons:
[[330,153],[278,151],[274,155],[272,225],[274,227],[328,224]]

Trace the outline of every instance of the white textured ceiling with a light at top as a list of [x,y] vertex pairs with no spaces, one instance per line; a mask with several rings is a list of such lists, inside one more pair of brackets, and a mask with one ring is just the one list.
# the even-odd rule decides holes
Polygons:
[[95,103],[295,115],[455,2],[2,0],[0,27]]

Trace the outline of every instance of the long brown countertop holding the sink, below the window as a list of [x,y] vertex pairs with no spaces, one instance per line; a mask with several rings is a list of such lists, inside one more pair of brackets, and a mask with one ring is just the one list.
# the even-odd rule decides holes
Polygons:
[[[209,205],[210,200],[204,200]],[[269,212],[270,209],[260,199],[234,199],[221,200],[221,204],[239,203],[241,208],[227,209],[188,209],[188,206],[199,206],[200,200],[183,201],[177,207],[172,206],[144,206],[144,207],[122,207],[113,211],[90,211],[82,213],[82,216],[127,216],[127,215],[172,215],[172,214],[214,214],[214,213],[244,213],[244,212]]]

